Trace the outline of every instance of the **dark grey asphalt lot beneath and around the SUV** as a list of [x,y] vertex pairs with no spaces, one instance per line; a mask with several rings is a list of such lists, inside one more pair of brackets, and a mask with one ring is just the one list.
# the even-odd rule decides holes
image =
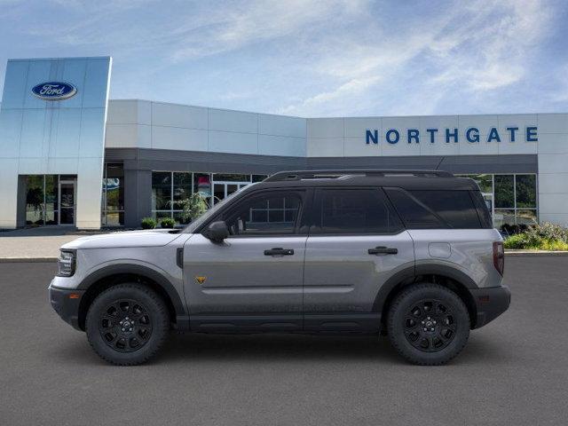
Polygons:
[[445,367],[376,336],[172,335],[111,367],[48,303],[55,264],[0,264],[0,424],[565,424],[568,257],[506,263],[509,312]]

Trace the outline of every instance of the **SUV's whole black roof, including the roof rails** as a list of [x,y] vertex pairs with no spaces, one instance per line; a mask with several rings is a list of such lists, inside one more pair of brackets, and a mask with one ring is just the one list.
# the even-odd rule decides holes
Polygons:
[[274,187],[392,186],[407,190],[478,190],[469,177],[442,170],[290,170],[267,177],[256,189]]

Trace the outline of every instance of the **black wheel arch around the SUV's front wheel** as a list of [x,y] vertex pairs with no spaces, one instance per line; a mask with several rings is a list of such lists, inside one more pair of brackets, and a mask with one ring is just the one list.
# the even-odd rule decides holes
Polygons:
[[99,296],[106,288],[111,288],[123,282],[137,282],[154,289],[158,295],[162,296],[168,307],[171,323],[175,324],[177,328],[186,327],[188,321],[186,320],[185,304],[168,278],[144,265],[112,264],[92,272],[81,282],[78,288],[85,290],[79,304],[78,315],[79,327],[83,331],[89,306],[91,306],[95,297]]

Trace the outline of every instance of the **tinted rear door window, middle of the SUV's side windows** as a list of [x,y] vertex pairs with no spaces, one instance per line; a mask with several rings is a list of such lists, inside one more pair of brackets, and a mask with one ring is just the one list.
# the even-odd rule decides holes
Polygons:
[[322,189],[312,233],[397,233],[402,223],[378,189]]

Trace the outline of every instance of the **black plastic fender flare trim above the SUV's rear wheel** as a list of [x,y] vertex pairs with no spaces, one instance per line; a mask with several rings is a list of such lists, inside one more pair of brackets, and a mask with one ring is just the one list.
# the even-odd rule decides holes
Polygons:
[[445,264],[417,264],[398,271],[392,275],[389,280],[386,280],[375,297],[373,311],[383,312],[384,304],[393,288],[397,287],[401,282],[410,282],[420,275],[443,275],[459,282],[465,288],[478,288],[476,282],[472,280],[471,277],[452,266]]

